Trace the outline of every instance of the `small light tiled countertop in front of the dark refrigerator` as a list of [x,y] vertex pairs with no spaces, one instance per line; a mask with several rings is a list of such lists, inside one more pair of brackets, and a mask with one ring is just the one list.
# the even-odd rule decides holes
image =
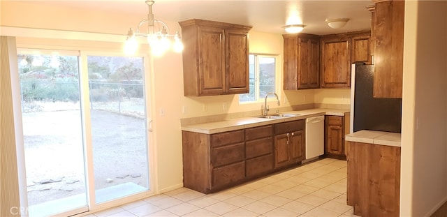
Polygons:
[[381,144],[393,147],[401,146],[400,133],[390,133],[375,130],[360,130],[345,136],[349,142],[363,142],[369,144]]

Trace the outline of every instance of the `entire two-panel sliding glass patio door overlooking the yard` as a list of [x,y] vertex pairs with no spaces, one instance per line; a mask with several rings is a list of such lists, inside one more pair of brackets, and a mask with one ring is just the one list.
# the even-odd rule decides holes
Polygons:
[[29,216],[149,190],[142,58],[22,50],[17,59]]

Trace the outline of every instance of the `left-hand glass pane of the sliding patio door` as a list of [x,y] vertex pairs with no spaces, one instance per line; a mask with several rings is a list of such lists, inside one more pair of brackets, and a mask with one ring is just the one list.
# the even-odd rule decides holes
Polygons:
[[30,216],[87,207],[78,56],[19,54]]

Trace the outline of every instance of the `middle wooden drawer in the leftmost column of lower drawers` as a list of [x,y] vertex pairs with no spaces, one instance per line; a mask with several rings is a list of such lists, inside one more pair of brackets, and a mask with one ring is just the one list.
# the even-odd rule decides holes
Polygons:
[[227,165],[244,160],[244,143],[230,144],[224,147],[217,147],[211,151],[211,164],[213,167]]

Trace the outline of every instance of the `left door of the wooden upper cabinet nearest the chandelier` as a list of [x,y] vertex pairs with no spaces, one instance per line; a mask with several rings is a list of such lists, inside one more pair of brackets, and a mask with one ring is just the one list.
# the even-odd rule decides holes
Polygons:
[[199,94],[218,95],[226,91],[223,29],[199,28]]

